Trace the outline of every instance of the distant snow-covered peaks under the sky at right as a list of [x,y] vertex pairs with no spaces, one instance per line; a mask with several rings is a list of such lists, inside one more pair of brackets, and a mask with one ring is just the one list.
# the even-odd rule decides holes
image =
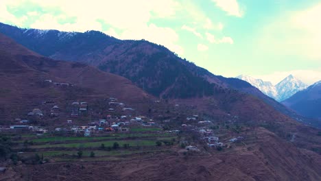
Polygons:
[[300,90],[307,88],[307,85],[293,75],[285,77],[281,82],[275,86],[271,82],[265,82],[261,79],[255,79],[247,75],[239,75],[238,79],[244,80],[252,86],[259,88],[265,95],[276,99],[276,101],[283,101]]

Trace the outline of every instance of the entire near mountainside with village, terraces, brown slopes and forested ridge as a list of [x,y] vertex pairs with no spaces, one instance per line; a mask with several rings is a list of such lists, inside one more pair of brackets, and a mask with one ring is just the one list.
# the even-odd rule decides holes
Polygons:
[[321,178],[320,129],[248,82],[145,40],[0,30],[0,180]]

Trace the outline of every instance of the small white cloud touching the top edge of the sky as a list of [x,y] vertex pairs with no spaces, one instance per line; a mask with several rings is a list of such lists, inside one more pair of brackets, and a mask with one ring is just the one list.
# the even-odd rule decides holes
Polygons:
[[239,3],[237,0],[212,0],[217,7],[221,8],[230,16],[243,16],[243,10],[241,10]]

